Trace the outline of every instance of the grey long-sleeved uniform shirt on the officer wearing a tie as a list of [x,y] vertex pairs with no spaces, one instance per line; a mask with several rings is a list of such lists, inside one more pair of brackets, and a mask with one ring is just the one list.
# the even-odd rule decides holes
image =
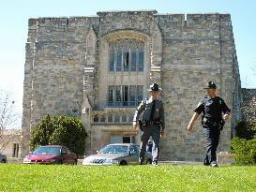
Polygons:
[[164,123],[164,108],[160,99],[155,100],[154,118],[151,119],[151,109],[153,107],[153,99],[151,97],[144,98],[139,107],[136,109],[133,121],[138,121],[140,114],[143,112],[143,121],[159,121],[162,129],[165,128]]

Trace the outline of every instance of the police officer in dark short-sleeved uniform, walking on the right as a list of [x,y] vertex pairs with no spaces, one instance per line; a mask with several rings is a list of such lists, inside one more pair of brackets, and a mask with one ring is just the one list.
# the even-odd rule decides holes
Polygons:
[[225,124],[225,120],[230,118],[231,110],[228,108],[225,101],[217,96],[217,86],[213,81],[209,81],[204,89],[207,90],[207,96],[201,99],[195,109],[195,113],[188,124],[188,131],[192,131],[194,122],[199,115],[203,113],[202,125],[205,130],[206,138],[206,157],[203,165],[218,167],[216,151],[218,148],[219,135]]

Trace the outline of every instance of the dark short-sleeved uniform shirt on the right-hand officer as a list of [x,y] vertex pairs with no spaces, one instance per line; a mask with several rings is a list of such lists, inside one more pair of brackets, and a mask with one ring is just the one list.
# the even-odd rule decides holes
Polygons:
[[222,112],[229,113],[230,111],[225,101],[219,96],[215,98],[211,98],[210,96],[203,97],[195,109],[195,112],[198,114],[203,112],[203,117],[215,121],[222,119]]

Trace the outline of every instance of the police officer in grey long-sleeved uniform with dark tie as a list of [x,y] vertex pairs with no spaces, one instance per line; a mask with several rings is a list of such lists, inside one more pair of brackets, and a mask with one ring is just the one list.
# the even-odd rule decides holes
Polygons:
[[164,135],[164,109],[163,103],[158,99],[159,91],[157,83],[150,85],[150,97],[143,99],[142,103],[136,109],[133,117],[133,127],[136,128],[140,114],[143,112],[143,119],[141,122],[141,150],[139,156],[139,164],[143,165],[144,155],[146,151],[146,144],[150,136],[153,140],[152,146],[152,164],[158,165],[159,154],[159,139]]

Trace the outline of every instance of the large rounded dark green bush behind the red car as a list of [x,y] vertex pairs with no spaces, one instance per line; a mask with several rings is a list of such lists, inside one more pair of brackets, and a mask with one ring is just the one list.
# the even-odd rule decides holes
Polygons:
[[30,143],[34,150],[38,145],[59,144],[67,146],[77,155],[83,155],[85,137],[83,123],[74,117],[51,117],[47,114],[33,129]]

